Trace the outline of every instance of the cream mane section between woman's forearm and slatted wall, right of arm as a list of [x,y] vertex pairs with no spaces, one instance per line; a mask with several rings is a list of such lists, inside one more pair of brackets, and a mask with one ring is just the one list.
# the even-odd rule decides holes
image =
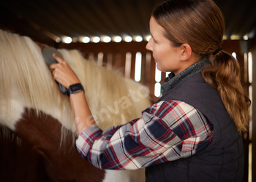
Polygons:
[[[83,58],[78,50],[62,49],[59,52],[78,74],[91,113],[103,130],[140,117],[141,111],[151,105],[148,89],[142,84],[124,78],[117,70],[97,66],[94,60]],[[74,61],[69,61],[71,58]],[[137,100],[131,98],[131,90]]]

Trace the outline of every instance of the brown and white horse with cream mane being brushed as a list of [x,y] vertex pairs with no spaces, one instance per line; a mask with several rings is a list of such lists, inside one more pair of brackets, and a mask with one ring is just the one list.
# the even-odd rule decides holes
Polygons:
[[[18,138],[12,142],[34,154],[24,157],[26,164],[22,163],[28,166],[29,162],[37,162],[30,165],[34,172],[32,181],[42,178],[47,181],[145,181],[144,169],[100,170],[82,159],[75,147],[78,136],[69,98],[53,80],[43,59],[42,47],[29,36],[4,30],[0,30],[0,42],[1,136]],[[151,106],[148,89],[142,84],[125,78],[118,71],[97,66],[94,60],[83,58],[78,50],[59,49],[59,52],[83,84],[91,113],[102,130],[140,117],[141,111]],[[4,154],[12,154],[13,149],[17,147]],[[8,165],[13,160],[8,159],[8,156],[1,157],[1,163]],[[23,181],[29,181],[31,173],[26,173],[22,165],[19,170]]]

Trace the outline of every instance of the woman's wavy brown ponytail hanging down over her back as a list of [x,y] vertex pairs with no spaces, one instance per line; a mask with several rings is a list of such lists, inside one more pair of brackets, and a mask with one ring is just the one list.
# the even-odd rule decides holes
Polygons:
[[203,68],[203,78],[219,92],[237,130],[245,132],[248,127],[250,100],[241,85],[239,63],[225,51],[209,55],[209,60],[211,65]]

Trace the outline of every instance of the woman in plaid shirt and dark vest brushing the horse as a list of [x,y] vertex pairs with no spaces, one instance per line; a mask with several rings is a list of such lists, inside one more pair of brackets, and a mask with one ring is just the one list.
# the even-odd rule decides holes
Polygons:
[[[171,72],[162,97],[141,118],[102,132],[78,87],[70,100],[81,156],[99,168],[146,167],[146,181],[242,181],[249,100],[237,61],[220,48],[224,29],[211,0],[170,0],[154,9],[146,49],[160,71]],[[53,58],[53,78],[71,90],[80,86],[67,63]]]

